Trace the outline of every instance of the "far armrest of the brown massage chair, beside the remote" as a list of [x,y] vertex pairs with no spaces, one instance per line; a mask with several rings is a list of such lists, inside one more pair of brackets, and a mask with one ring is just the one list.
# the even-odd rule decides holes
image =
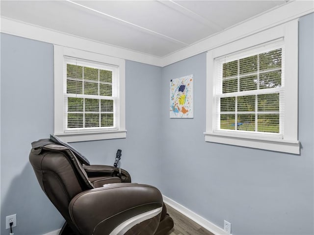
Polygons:
[[[83,165],[88,177],[116,177],[119,169],[111,165]],[[128,171],[121,169],[121,180],[123,183],[131,183],[131,176]]]

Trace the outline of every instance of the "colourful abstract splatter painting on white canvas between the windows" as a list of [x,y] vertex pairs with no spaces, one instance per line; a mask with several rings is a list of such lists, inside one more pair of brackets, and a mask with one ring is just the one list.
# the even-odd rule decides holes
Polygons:
[[170,80],[170,118],[193,118],[193,74]]

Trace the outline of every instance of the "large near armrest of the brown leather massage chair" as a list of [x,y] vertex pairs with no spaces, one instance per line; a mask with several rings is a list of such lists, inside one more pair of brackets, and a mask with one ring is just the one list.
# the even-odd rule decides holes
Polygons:
[[124,221],[146,212],[157,211],[154,216],[159,216],[159,221],[162,206],[157,188],[118,183],[79,193],[71,200],[69,212],[81,234],[110,235]]

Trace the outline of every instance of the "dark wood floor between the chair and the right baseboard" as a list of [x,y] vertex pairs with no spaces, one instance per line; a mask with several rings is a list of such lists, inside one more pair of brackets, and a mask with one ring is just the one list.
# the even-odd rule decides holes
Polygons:
[[214,235],[169,205],[167,211],[175,224],[167,235]]

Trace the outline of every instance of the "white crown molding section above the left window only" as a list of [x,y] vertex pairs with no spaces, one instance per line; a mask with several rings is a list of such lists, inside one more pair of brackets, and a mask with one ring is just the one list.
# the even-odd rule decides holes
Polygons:
[[160,57],[81,38],[33,24],[1,17],[0,32],[54,45],[86,50],[149,65],[161,66]]

